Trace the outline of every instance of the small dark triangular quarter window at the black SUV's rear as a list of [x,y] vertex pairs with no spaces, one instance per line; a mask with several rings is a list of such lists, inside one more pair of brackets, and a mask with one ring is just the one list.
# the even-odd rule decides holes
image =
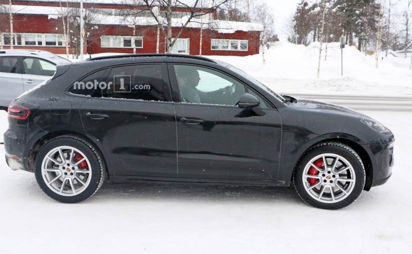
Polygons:
[[105,71],[106,69],[94,72],[86,78],[75,82],[69,88],[69,93],[91,97],[101,97],[102,91],[100,90],[99,84],[102,81]]

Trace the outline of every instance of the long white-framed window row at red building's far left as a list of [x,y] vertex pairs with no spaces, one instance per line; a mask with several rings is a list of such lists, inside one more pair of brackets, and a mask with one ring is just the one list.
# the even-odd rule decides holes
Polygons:
[[[10,45],[10,34],[0,34],[3,45]],[[38,34],[38,33],[15,33],[13,45],[16,46],[63,46],[63,34]]]

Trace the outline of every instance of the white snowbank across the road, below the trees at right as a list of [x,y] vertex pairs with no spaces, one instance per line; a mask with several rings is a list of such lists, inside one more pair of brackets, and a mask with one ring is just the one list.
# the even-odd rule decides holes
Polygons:
[[[411,56],[388,55],[375,68],[375,56],[365,55],[355,47],[343,49],[343,76],[339,43],[328,43],[327,57],[322,52],[320,79],[316,79],[319,46],[307,47],[278,42],[262,55],[247,57],[212,56],[245,70],[279,93],[412,95]],[[385,53],[381,54],[385,56]]]

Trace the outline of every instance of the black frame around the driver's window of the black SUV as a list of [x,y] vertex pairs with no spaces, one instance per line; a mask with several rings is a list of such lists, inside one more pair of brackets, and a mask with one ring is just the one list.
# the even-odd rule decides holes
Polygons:
[[182,102],[180,100],[180,90],[179,90],[179,85],[177,84],[177,79],[176,79],[176,73],[174,71],[174,65],[187,65],[187,66],[196,66],[196,67],[201,67],[201,68],[205,68],[205,69],[210,69],[213,71],[217,71],[220,72],[226,76],[231,77],[232,79],[236,80],[237,82],[241,83],[242,85],[244,85],[248,90],[252,90],[253,92],[255,92],[257,95],[259,95],[260,97],[262,97],[263,100],[265,100],[265,103],[267,104],[268,109],[262,109],[262,110],[275,110],[277,111],[277,108],[275,106],[274,103],[272,103],[269,99],[267,99],[264,95],[262,95],[260,92],[258,92],[256,89],[254,89],[253,87],[251,87],[249,84],[243,82],[242,80],[238,79],[235,76],[232,76],[231,74],[222,71],[220,69],[216,69],[214,67],[210,67],[210,66],[205,66],[205,65],[199,65],[199,64],[191,64],[191,63],[180,63],[180,62],[168,62],[167,63],[167,69],[169,71],[169,79],[170,79],[170,88],[171,88],[171,93],[172,93],[172,97],[173,97],[173,102],[174,103],[179,103],[179,104],[183,104],[183,105],[194,105],[194,106],[205,106],[205,107],[223,107],[223,108],[239,108],[238,106],[234,106],[234,105],[220,105],[220,104],[202,104],[202,103],[186,103],[186,102]]

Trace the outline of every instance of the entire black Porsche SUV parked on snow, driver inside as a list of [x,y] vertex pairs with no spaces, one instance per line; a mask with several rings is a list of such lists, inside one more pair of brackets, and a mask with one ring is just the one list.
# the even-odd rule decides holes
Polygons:
[[289,186],[324,209],[391,176],[394,135],[335,105],[280,96],[220,61],[122,55],[59,65],[15,99],[10,168],[80,202],[105,180]]

